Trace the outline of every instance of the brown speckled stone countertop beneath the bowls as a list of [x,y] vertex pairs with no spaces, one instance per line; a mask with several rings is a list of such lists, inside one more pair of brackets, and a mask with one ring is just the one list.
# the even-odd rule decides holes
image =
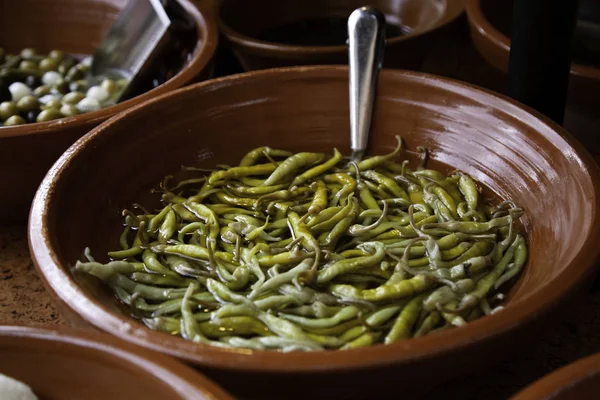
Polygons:
[[[598,286],[598,285],[596,285]],[[0,324],[67,324],[29,257],[26,227],[0,227]],[[529,383],[578,358],[600,351],[600,290],[575,302],[566,319],[510,360],[438,387],[419,400],[506,399]]]

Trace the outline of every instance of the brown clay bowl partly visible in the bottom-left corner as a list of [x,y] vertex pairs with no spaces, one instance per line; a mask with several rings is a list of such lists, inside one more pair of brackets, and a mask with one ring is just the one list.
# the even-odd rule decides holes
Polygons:
[[0,326],[0,360],[0,374],[41,400],[232,399],[176,360],[105,334]]

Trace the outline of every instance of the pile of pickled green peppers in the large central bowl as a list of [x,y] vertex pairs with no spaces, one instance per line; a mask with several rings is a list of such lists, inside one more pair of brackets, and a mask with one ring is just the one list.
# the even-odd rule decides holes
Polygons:
[[219,347],[357,348],[501,310],[498,289],[527,258],[522,210],[426,169],[425,151],[409,169],[397,139],[358,163],[260,147],[235,167],[167,177],[164,208],[123,211],[112,261],[88,249],[75,269],[148,327]]

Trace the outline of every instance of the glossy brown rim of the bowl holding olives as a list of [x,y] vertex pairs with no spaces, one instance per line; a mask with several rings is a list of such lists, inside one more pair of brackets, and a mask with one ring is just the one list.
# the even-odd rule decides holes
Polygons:
[[54,132],[57,129],[72,129],[87,125],[97,125],[132,106],[190,83],[192,79],[210,64],[217,50],[219,36],[218,27],[217,23],[212,18],[211,11],[208,10],[207,6],[200,4],[201,2],[191,0],[177,1],[192,16],[196,23],[196,35],[199,36],[196,45],[199,46],[189,63],[187,63],[175,76],[154,89],[110,107],[101,108],[97,111],[47,122],[34,122],[11,127],[0,127],[0,139],[46,134]]

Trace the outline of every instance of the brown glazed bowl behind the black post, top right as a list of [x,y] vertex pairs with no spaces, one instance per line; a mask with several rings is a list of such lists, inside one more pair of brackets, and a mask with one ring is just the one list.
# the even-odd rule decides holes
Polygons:
[[[593,0],[588,2],[592,4]],[[506,73],[513,2],[468,0],[466,11],[475,47],[491,65]],[[597,138],[600,124],[598,93],[600,68],[575,62],[571,64],[565,127],[596,157],[600,156],[600,140]]]

